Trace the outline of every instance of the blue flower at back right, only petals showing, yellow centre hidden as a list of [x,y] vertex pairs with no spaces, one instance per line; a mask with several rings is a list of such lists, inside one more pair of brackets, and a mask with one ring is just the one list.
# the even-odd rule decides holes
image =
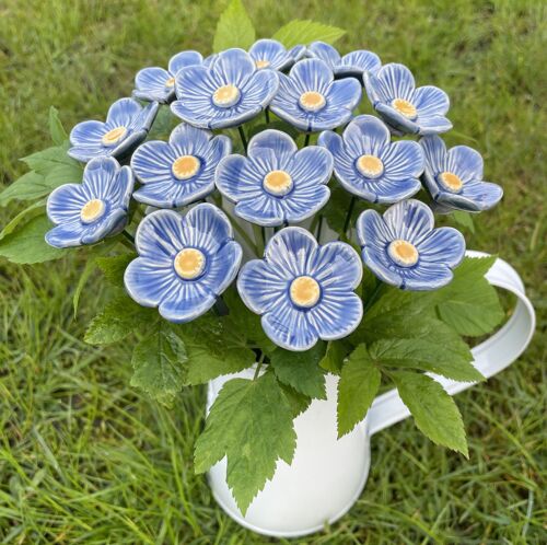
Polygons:
[[337,78],[353,76],[361,79],[364,72],[376,73],[382,62],[375,53],[358,49],[344,57],[329,44],[314,42],[307,47],[307,56],[324,60]]

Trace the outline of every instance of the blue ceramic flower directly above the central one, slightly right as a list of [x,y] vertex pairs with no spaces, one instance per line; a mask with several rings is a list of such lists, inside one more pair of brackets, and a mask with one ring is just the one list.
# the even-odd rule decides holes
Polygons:
[[303,59],[288,77],[279,74],[279,91],[270,109],[300,130],[315,131],[346,124],[360,100],[361,85],[354,78],[334,81],[326,62]]

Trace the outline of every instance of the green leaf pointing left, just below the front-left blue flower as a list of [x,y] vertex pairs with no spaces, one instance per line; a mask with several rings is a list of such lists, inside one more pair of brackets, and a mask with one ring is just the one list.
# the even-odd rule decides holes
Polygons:
[[148,328],[155,318],[153,309],[146,309],[121,293],[91,321],[84,340],[90,345],[117,343],[140,328]]

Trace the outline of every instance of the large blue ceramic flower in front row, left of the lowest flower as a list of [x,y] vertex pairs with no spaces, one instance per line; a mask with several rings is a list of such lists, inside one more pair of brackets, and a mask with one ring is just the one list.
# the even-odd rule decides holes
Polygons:
[[135,245],[139,257],[124,282],[142,306],[158,306],[170,322],[197,318],[232,283],[242,258],[232,225],[213,205],[194,207],[183,218],[158,210],[140,223]]

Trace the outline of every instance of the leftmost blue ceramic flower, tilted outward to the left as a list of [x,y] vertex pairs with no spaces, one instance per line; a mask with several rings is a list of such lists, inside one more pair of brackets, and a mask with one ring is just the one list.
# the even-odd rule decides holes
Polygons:
[[63,248],[94,244],[126,227],[133,188],[129,166],[112,158],[91,160],[81,184],[66,184],[47,199],[47,216],[56,224],[46,233],[50,246]]

